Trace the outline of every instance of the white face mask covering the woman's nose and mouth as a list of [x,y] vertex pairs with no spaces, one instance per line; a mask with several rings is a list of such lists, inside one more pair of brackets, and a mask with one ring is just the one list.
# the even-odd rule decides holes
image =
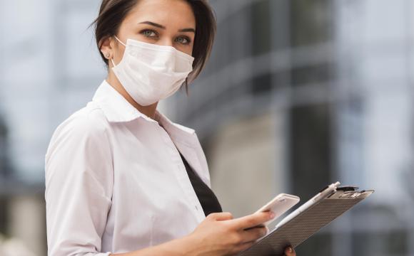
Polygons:
[[[115,36],[116,40],[120,43]],[[193,70],[193,56],[173,48],[128,39],[113,73],[126,92],[141,106],[148,106],[176,92]]]

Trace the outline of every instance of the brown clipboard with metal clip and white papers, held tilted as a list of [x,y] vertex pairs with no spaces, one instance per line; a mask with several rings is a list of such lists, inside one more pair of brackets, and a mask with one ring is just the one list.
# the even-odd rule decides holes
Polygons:
[[286,247],[300,245],[374,191],[358,191],[355,186],[333,183],[281,220],[268,235],[256,240],[239,256],[284,255]]

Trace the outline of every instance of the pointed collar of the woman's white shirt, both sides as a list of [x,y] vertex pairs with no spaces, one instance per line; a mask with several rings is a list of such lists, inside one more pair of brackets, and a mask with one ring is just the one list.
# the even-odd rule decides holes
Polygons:
[[96,102],[104,111],[108,122],[131,122],[143,118],[148,122],[161,124],[170,136],[176,139],[186,139],[188,135],[195,134],[191,128],[171,122],[165,115],[156,110],[155,118],[151,119],[136,110],[118,91],[104,80],[95,92],[92,101]]

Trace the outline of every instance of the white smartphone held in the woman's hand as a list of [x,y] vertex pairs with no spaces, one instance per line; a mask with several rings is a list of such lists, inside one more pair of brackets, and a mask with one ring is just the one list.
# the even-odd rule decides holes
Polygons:
[[286,193],[278,194],[278,196],[273,198],[272,201],[266,203],[266,205],[256,211],[256,213],[259,213],[271,210],[273,213],[275,213],[275,217],[273,219],[268,220],[266,223],[263,223],[259,226],[269,225],[269,223],[271,223],[273,220],[276,220],[276,218],[279,218],[283,213],[286,213],[287,210],[295,206],[296,203],[299,203],[299,201],[301,201],[301,199],[298,196],[293,196]]

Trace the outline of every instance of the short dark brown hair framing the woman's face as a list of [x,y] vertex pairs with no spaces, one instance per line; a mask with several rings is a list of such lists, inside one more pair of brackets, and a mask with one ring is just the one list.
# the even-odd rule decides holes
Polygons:
[[[99,9],[99,16],[91,23],[94,25],[96,45],[101,58],[108,67],[108,60],[101,53],[102,42],[111,36],[116,36],[123,19],[133,9],[139,0],[103,0]],[[190,4],[196,17],[196,36],[193,45],[193,71],[188,75],[191,81],[201,73],[213,47],[216,35],[216,18],[207,0],[184,0]],[[188,82],[185,82],[188,92]]]

